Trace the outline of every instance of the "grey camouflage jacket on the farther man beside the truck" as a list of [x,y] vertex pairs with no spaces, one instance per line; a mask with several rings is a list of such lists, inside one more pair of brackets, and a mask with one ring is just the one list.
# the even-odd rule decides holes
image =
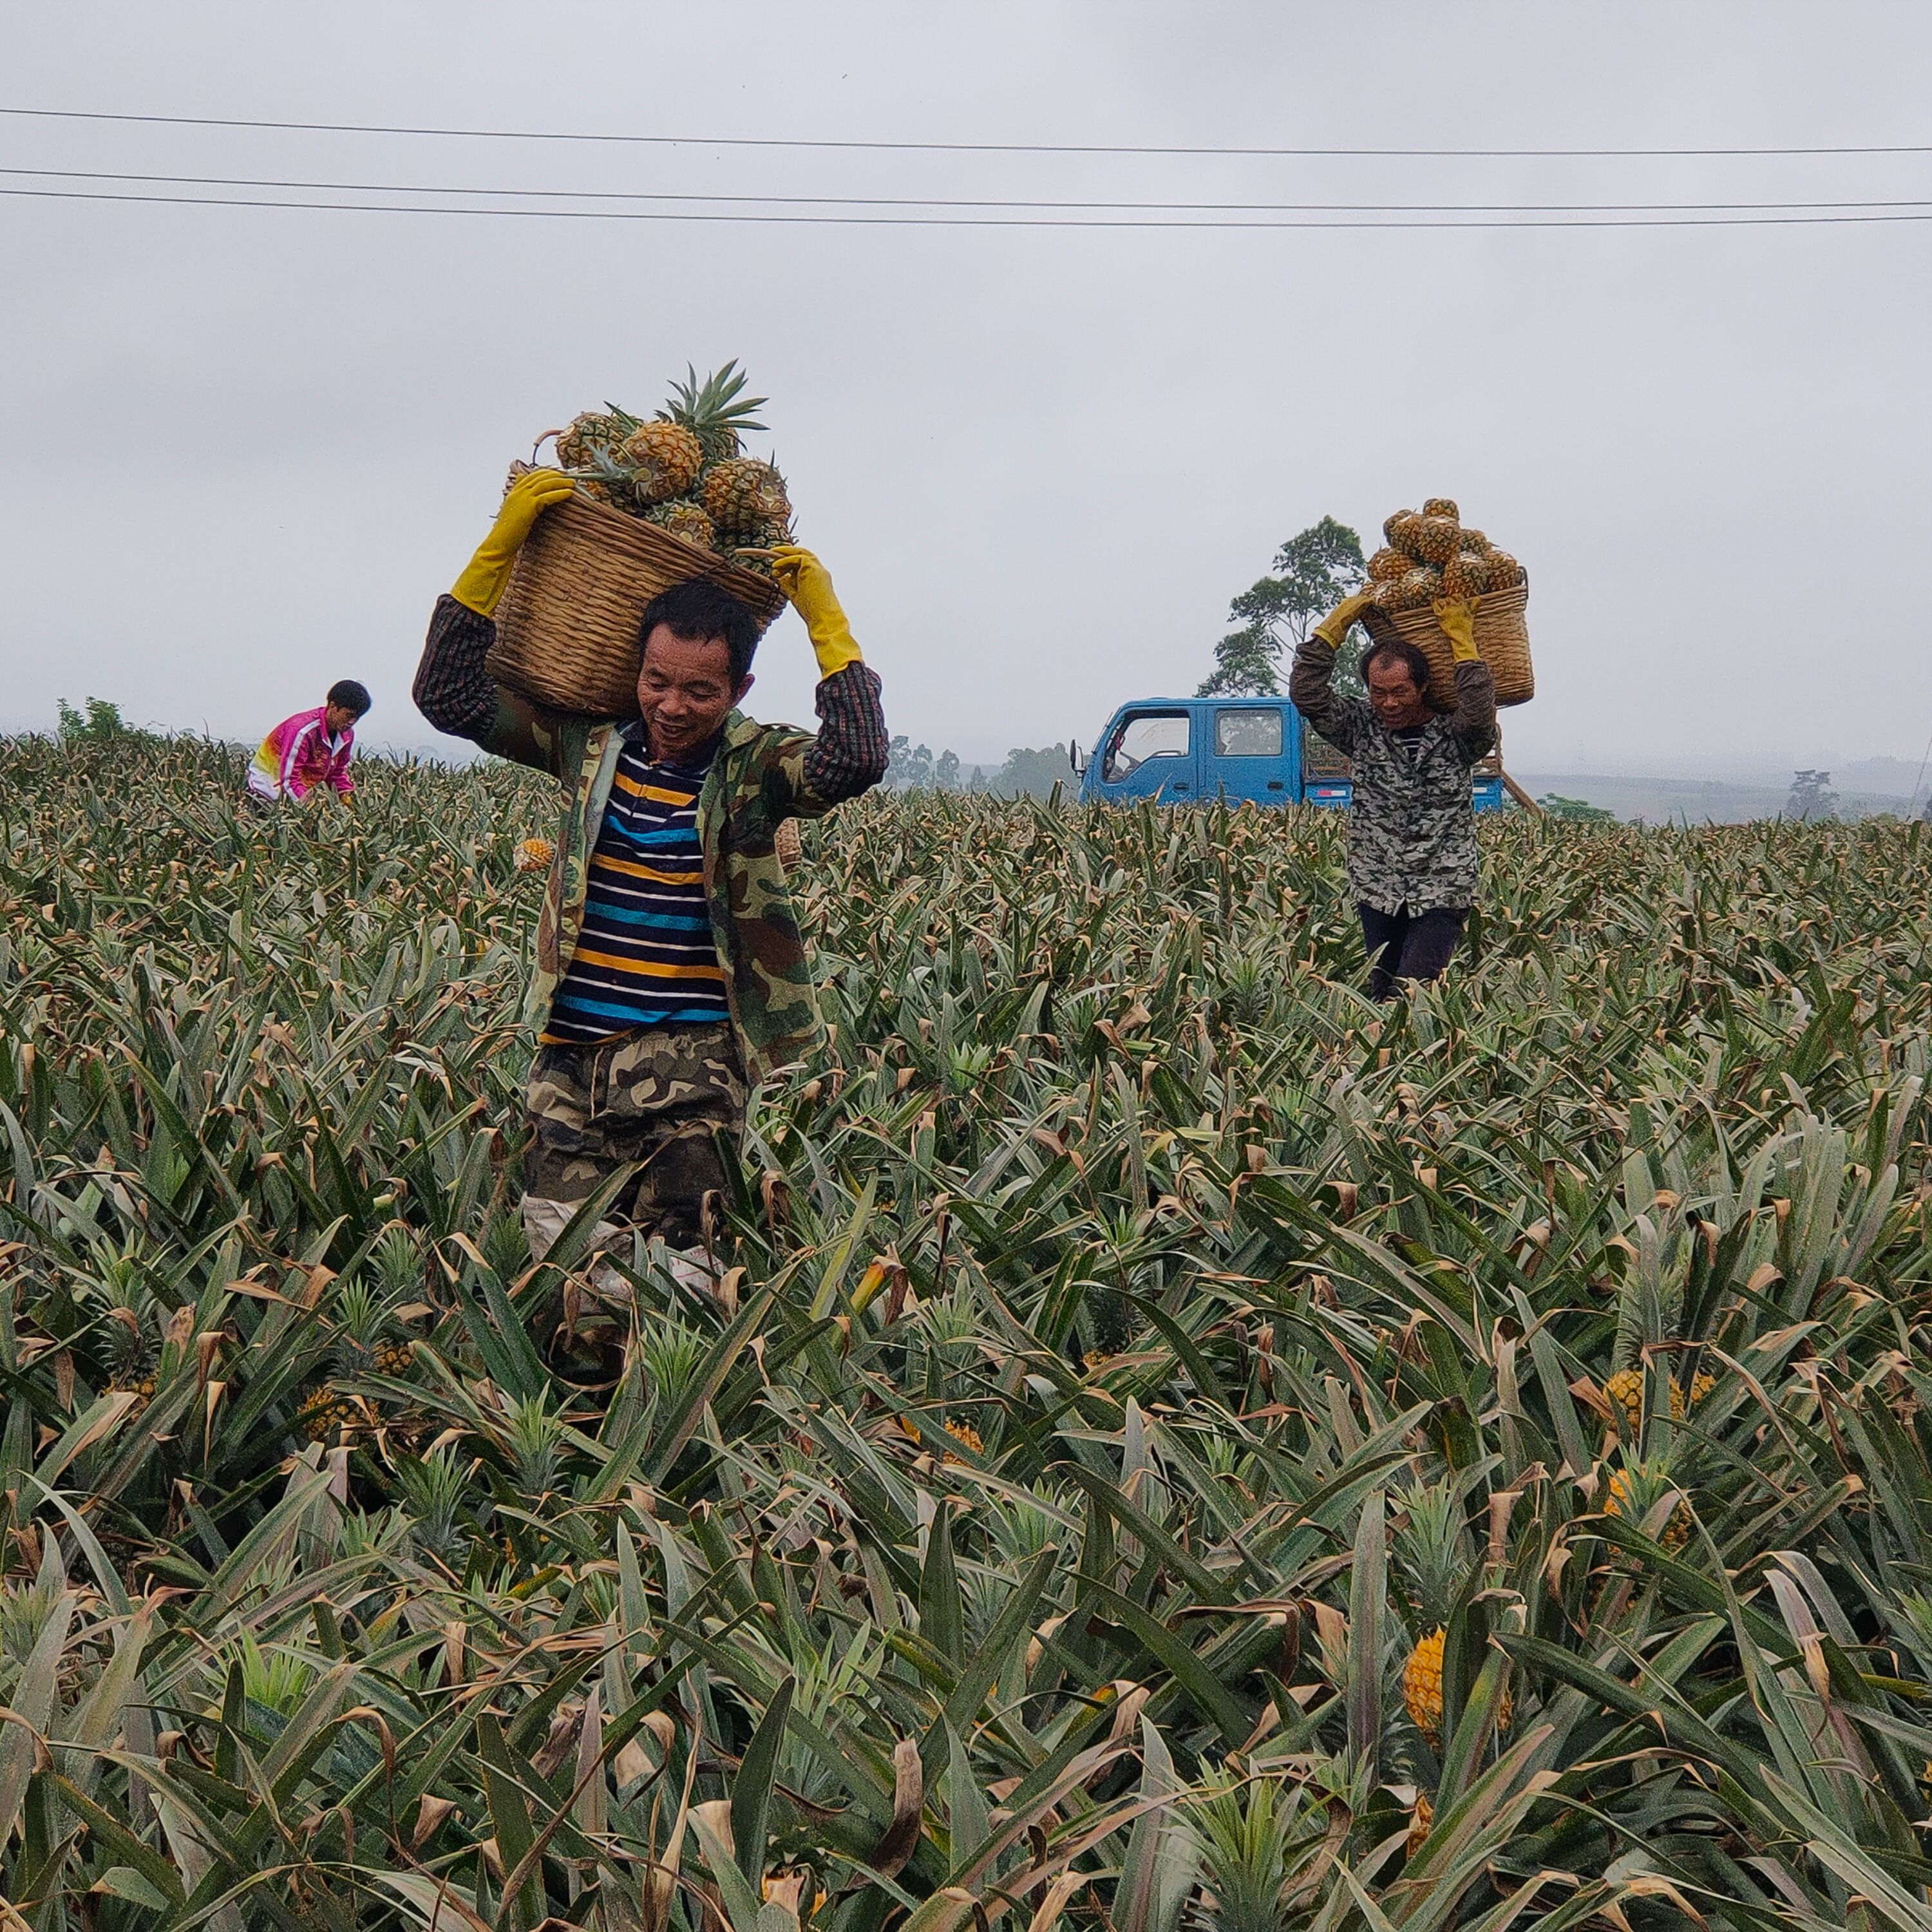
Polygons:
[[1335,647],[1308,638],[1294,653],[1294,709],[1352,767],[1349,891],[1378,912],[1428,912],[1476,898],[1470,773],[1495,746],[1495,678],[1455,667],[1455,711],[1432,717],[1406,746],[1362,697],[1337,697]]

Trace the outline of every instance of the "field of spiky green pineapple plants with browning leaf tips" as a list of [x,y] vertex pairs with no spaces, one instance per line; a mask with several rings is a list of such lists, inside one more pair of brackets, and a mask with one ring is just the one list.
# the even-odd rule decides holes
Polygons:
[[1932,1928],[1924,827],[1486,821],[1378,1009],[1335,817],[862,800],[611,1335],[551,790],[357,769],[0,744],[6,1926]]

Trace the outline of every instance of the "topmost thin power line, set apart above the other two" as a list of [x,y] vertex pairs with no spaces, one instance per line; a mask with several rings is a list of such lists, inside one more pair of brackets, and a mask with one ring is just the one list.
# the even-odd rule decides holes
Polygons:
[[630,147],[767,147],[873,155],[1151,155],[1248,160],[1768,160],[1822,155],[1932,155],[1926,143],[1845,147],[1153,147],[1103,141],[825,141],[782,135],[580,133],[533,128],[410,128],[388,122],[242,120],[214,114],[104,114],[89,108],[10,108],[23,120],[118,122],[137,128],[249,128],[270,133],[381,133],[440,141],[605,141]]

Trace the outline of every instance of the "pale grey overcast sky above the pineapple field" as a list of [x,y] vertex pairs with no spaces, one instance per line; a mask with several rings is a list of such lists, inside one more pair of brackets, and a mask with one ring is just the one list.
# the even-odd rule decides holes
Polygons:
[[[1924,201],[1932,153],[1204,158],[724,149],[1932,141],[1922,4],[10,4],[0,166],[709,195]],[[0,185],[89,185],[0,176]],[[93,184],[112,185],[112,184]],[[137,193],[178,189],[131,187]],[[201,189],[222,193],[224,189]],[[435,197],[433,197],[435,199]],[[442,195],[448,203],[452,197]],[[566,203],[570,205],[570,203]],[[1932,222],[1329,232],[755,226],[0,197],[0,728],[257,736],[408,684],[504,466],[686,363],[771,396],[895,730],[968,759],[1192,690],[1323,514],[1451,495],[1528,564],[1524,769],[1918,759]],[[1379,537],[1374,537],[1379,541]],[[810,721],[784,618],[750,709]]]

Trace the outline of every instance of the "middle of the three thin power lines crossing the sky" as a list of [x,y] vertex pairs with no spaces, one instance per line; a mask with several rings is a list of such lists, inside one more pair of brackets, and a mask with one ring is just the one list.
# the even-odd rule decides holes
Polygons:
[[0,168],[0,176],[58,182],[135,182],[168,187],[261,187],[352,195],[479,195],[520,201],[649,201],[701,207],[837,207],[837,209],[1049,209],[1097,214],[1770,214],[1932,209],[1917,201],[1036,201],[956,199],[947,195],[717,195],[703,191],[614,187],[468,187],[439,182],[298,182],[234,174],[129,174],[95,168]]

